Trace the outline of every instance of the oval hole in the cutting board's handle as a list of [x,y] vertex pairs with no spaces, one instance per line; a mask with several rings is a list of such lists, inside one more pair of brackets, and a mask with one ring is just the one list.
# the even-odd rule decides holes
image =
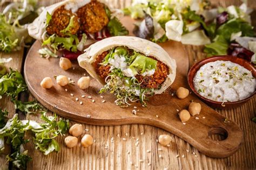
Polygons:
[[228,137],[228,133],[225,129],[220,127],[213,127],[208,131],[208,136],[212,140],[225,140]]

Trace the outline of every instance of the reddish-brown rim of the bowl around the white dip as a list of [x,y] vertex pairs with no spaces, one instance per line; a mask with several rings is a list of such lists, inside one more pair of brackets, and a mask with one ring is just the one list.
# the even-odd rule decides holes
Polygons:
[[[222,60],[222,61],[231,61],[231,59],[236,59],[236,60],[241,60],[241,61],[243,61],[243,62],[245,62],[246,63],[246,65],[250,65],[249,67],[251,67],[252,68],[252,70],[250,70],[251,72],[252,72],[252,75],[253,75],[253,77],[254,77],[254,79],[255,79],[255,72],[256,72],[256,68],[250,63],[250,62],[248,62],[247,60],[244,60],[244,59],[241,59],[241,58],[238,58],[237,56],[232,56],[232,55],[216,55],[216,56],[211,56],[211,57],[209,57],[209,58],[206,58],[206,59],[203,59],[203,60],[200,60],[199,62],[197,62],[197,63],[194,63],[193,65],[192,65],[192,67],[189,69],[189,71],[188,71],[188,74],[187,74],[187,82],[188,82],[188,85],[190,86],[190,88],[191,88],[191,90],[193,91],[193,93],[194,94],[196,94],[199,98],[201,98],[201,99],[203,99],[204,101],[206,101],[206,102],[210,102],[210,103],[214,103],[214,104],[220,104],[220,105],[224,105],[224,104],[228,104],[228,105],[231,105],[231,104],[240,104],[240,103],[243,103],[243,102],[246,102],[246,101],[248,101],[248,100],[250,100],[250,98],[252,98],[255,94],[256,94],[256,90],[255,90],[255,88],[254,88],[254,92],[250,95],[250,96],[248,96],[248,97],[246,97],[246,98],[244,98],[243,100],[240,100],[240,101],[234,101],[234,102],[217,102],[217,101],[213,101],[213,100],[210,100],[210,99],[208,99],[208,98],[206,98],[206,97],[204,97],[204,96],[201,96],[198,92],[197,92],[197,90],[194,88],[194,83],[193,83],[193,79],[194,79],[194,75],[197,73],[197,71],[201,68],[201,66],[203,66],[203,65],[205,65],[206,63],[208,63],[208,62],[214,62],[214,61],[217,61],[217,60]],[[234,62],[234,61],[231,61],[231,62]],[[234,63],[237,63],[237,62],[234,62]],[[240,65],[240,63],[237,63],[238,65]],[[240,65],[241,66],[241,65]],[[196,69],[196,67],[198,67],[197,69]],[[242,67],[244,67],[244,66],[242,66]],[[245,68],[245,67],[244,67]],[[192,70],[193,69],[195,69],[196,70],[196,72],[195,72],[195,74],[192,74]],[[247,69],[247,68],[246,68]],[[249,70],[249,69],[248,69]],[[254,72],[254,73],[253,73]],[[192,78],[191,78],[191,76],[193,76]],[[192,81],[190,81],[190,80],[192,80]]]

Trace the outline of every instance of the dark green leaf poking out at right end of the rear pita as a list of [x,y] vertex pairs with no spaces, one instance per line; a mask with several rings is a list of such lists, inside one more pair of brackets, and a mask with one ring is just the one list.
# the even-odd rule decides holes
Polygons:
[[125,36],[129,34],[129,31],[120,23],[117,17],[110,19],[107,24],[107,30],[109,30],[111,36]]

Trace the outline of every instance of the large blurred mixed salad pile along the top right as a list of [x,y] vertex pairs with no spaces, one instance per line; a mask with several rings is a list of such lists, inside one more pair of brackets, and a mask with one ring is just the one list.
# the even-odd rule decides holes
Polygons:
[[144,20],[134,27],[137,37],[205,45],[207,56],[229,54],[256,63],[256,38],[247,5],[209,9],[203,1],[134,0],[126,15]]

